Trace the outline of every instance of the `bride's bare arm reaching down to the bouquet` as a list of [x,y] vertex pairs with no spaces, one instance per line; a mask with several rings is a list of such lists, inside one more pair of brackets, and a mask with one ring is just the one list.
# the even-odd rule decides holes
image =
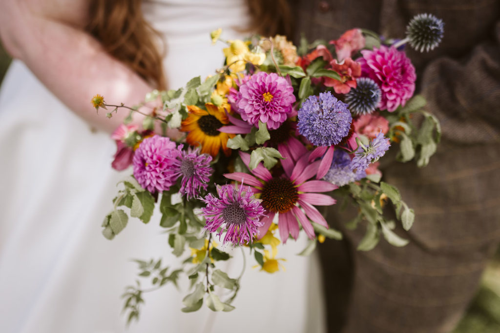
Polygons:
[[[151,87],[108,55],[77,20],[76,24],[70,24],[62,18],[34,14],[23,8],[25,5],[21,1],[17,5],[10,3],[10,8],[1,14],[10,15],[9,22],[5,22],[5,17],[0,18],[1,37],[7,50],[22,60],[69,109],[91,125],[112,131],[128,112],[119,110],[111,119],[104,116],[105,112],[97,115],[90,104],[92,96],[99,93],[106,103],[134,105],[144,99]],[[143,111],[148,112],[147,108]],[[135,114],[134,122],[141,117]]]

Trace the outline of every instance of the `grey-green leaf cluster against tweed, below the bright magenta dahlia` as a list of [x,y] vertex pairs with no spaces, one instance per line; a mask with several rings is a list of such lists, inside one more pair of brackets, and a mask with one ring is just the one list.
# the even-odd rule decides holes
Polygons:
[[439,121],[423,110],[425,103],[425,98],[415,95],[393,113],[385,114],[390,126],[388,136],[400,140],[397,159],[401,162],[415,159],[419,167],[429,163],[441,138]]

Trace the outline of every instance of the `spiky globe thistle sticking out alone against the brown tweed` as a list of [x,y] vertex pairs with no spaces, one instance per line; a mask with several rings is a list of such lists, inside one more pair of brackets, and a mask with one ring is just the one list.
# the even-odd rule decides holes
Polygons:
[[406,26],[406,38],[412,48],[419,52],[434,49],[441,42],[444,23],[432,14],[413,16]]

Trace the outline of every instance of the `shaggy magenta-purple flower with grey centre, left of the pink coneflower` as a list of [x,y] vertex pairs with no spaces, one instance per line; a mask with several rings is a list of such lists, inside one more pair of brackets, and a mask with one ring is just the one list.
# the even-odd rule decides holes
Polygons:
[[253,197],[249,186],[217,185],[217,197],[209,193],[201,200],[206,204],[201,208],[206,221],[205,230],[212,233],[220,228],[219,240],[225,231],[222,244],[251,243],[258,235],[258,228],[264,224],[260,221],[264,208],[260,200]]

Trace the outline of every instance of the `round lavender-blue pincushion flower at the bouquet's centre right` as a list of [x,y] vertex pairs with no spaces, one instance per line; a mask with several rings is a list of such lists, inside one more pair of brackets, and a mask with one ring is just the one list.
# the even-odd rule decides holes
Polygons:
[[298,132],[315,146],[332,146],[349,133],[352,116],[347,104],[329,91],[309,96],[298,110]]

